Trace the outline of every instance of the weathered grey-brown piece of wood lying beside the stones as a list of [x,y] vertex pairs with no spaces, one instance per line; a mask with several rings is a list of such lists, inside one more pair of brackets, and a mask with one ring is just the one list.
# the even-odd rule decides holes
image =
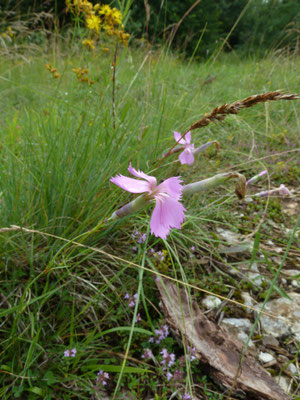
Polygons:
[[225,329],[208,320],[195,302],[189,300],[186,289],[164,280],[157,280],[165,317],[175,332],[192,347],[202,366],[221,386],[235,392],[243,391],[247,399],[289,400],[291,399],[275,380],[246,352],[240,372],[243,344]]

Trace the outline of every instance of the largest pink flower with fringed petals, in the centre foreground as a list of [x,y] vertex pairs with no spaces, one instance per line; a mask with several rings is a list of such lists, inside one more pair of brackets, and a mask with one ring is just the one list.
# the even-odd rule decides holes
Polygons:
[[112,177],[110,181],[130,193],[148,193],[149,200],[156,201],[151,221],[151,233],[156,237],[166,239],[171,228],[181,228],[184,221],[185,208],[180,203],[182,185],[179,177],[168,178],[157,185],[155,177],[137,171],[129,164],[128,171],[144,180],[128,178],[123,175]]

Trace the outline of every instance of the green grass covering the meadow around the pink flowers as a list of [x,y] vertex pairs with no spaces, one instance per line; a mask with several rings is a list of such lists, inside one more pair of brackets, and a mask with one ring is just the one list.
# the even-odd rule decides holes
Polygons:
[[[172,231],[167,242],[148,234],[135,252],[131,234],[149,231],[151,209],[106,223],[133,198],[109,182],[116,173],[127,174],[129,161],[159,179],[181,175],[185,183],[229,170],[250,178],[267,168],[273,186],[299,185],[296,101],[257,105],[227,117],[222,125],[194,131],[195,145],[220,142],[217,157],[209,150],[188,168],[175,162],[176,156],[158,169],[152,163],[174,144],[173,130],[184,132],[217,105],[279,88],[299,93],[300,59],[273,55],[257,61],[233,54],[215,63],[188,65],[163,50],[147,54],[123,49],[113,129],[112,53],[93,55],[59,46],[49,53],[1,59],[1,227],[39,231],[0,233],[3,399],[98,399],[100,368],[111,375],[110,398],[128,398],[128,391],[133,398],[151,392],[157,399],[167,398],[174,387],[161,368],[141,358],[153,329],[164,323],[157,289],[153,275],[130,262],[223,296],[233,287],[238,296],[246,283],[220,267],[232,260],[218,253],[216,228],[249,234],[263,222],[261,240],[272,237],[285,249],[289,236],[274,239],[268,213],[282,227],[295,226],[282,213],[281,200],[258,200],[243,210],[230,184],[185,200],[182,229]],[[52,63],[61,77],[53,79],[45,63]],[[71,71],[77,67],[89,70],[93,86],[77,82]],[[262,180],[257,190],[266,187]],[[191,257],[191,246],[198,258]],[[151,257],[150,248],[163,250],[164,261]],[[297,251],[296,242],[292,248]],[[199,261],[209,254],[219,262],[215,269],[207,270]],[[128,308],[127,292],[138,292],[138,308]],[[142,321],[134,326],[137,312]],[[73,347],[76,357],[63,358]],[[184,354],[171,337],[164,347],[178,357]],[[153,353],[159,355],[160,349],[156,346]],[[184,373],[187,385],[194,374],[203,393],[222,398],[198,367],[189,366]],[[185,389],[184,380],[180,392]]]

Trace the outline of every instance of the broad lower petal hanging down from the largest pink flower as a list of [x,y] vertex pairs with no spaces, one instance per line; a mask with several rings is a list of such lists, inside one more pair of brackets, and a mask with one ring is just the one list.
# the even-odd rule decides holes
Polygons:
[[181,228],[184,211],[183,205],[175,199],[157,200],[150,221],[151,233],[166,239],[171,228]]

